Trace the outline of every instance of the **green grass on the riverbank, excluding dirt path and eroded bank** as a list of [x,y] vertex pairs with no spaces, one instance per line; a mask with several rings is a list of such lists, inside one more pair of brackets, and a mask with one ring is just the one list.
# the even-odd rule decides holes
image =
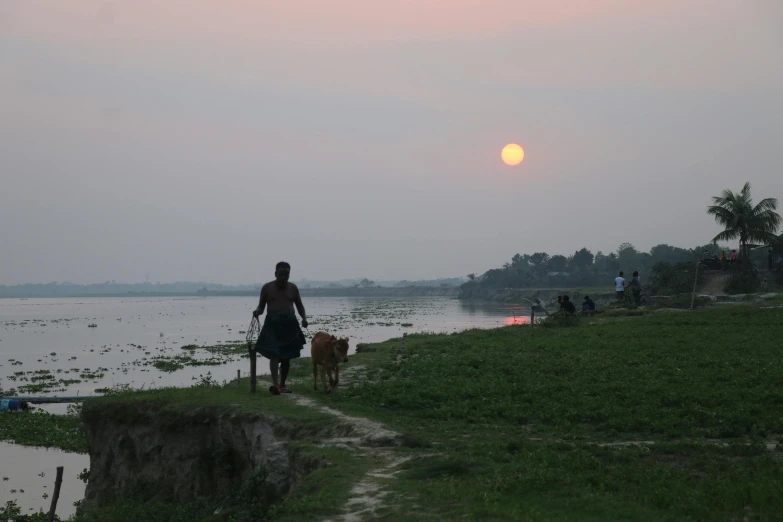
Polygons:
[[[404,435],[384,449],[400,463],[395,473],[374,479],[384,520],[773,520],[783,512],[781,337],[783,308],[597,316],[569,328],[411,335],[404,352],[399,340],[374,345],[351,356],[329,396],[312,391],[302,360],[291,387]],[[257,396],[246,390],[123,394],[86,414],[157,402],[166,422],[183,408],[334,421],[261,383]],[[316,438],[295,445],[330,466],[306,476],[271,520],[344,512],[377,458]],[[150,512],[131,502],[101,520]],[[161,506],[150,520],[244,516],[213,512]]]

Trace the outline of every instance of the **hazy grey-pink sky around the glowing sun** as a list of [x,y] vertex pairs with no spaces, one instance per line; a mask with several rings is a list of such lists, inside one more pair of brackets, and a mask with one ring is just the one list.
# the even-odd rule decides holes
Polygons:
[[779,0],[0,0],[0,283],[693,246],[781,92]]

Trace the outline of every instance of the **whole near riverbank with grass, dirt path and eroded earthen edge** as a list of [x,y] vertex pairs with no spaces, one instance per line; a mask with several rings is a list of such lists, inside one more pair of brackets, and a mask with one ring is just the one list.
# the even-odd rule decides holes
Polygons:
[[[400,517],[390,520],[407,520],[405,513],[422,505],[440,519],[465,513],[513,519],[528,509],[548,519],[562,514],[563,502],[579,498],[584,502],[571,503],[575,516],[600,506],[606,519],[725,518],[733,508],[719,498],[747,488],[761,494],[778,481],[774,459],[783,424],[765,413],[775,400],[765,390],[779,375],[770,347],[781,333],[781,314],[780,308],[737,303],[633,319],[595,316],[573,327],[408,334],[404,343],[393,337],[352,354],[334,394],[313,391],[303,364],[292,367],[292,396],[267,393],[268,376],[259,375],[255,395],[242,378],[227,386],[129,390],[90,400],[81,419],[95,460],[86,518],[77,520],[119,521],[111,515],[112,499],[122,491],[106,485],[129,470],[170,478],[161,482],[165,495],[155,507],[164,512],[191,509],[188,491],[208,497],[209,512],[226,505],[247,509],[248,499],[232,492],[255,480],[258,468],[241,464],[248,451],[261,469],[265,462],[279,466],[267,468],[279,473],[266,475],[257,491],[274,499],[272,520],[283,522],[339,517],[362,502]],[[746,347],[750,355],[738,356],[732,347],[745,338],[739,326],[748,324],[760,337]],[[726,342],[714,346],[706,332]],[[683,345],[690,349],[683,352]],[[476,350],[495,356],[477,359]],[[716,398],[712,383],[725,377],[727,360],[736,371],[730,389]],[[502,378],[471,377],[486,373]],[[748,408],[756,413],[747,415]],[[247,435],[256,432],[268,444]],[[213,442],[218,453],[210,449]],[[168,448],[168,456],[159,456],[158,446]],[[115,455],[111,466],[101,464],[107,451]],[[224,453],[241,465],[222,467],[222,457],[214,456]],[[722,481],[721,473],[702,468],[707,461],[738,477],[750,477],[749,470],[755,475]],[[569,476],[568,487],[546,479],[550,475]],[[199,493],[211,476],[220,477],[223,498]],[[493,477],[505,486],[492,489]],[[612,487],[599,491],[596,480]],[[638,494],[634,488],[648,481],[654,487]],[[371,506],[354,493],[365,487],[405,500],[398,506],[379,496]],[[499,495],[500,502],[487,508],[471,500],[476,491]],[[308,492],[329,501],[313,504]],[[656,507],[658,495],[668,499],[664,511]],[[693,495],[701,500],[691,503]],[[143,519],[148,501],[140,497],[123,509]],[[779,507],[756,509],[763,516]],[[207,513],[192,509],[194,517]]]

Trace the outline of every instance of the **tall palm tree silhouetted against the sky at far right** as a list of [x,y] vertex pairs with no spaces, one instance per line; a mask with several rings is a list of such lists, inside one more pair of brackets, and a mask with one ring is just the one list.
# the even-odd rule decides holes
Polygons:
[[739,238],[740,256],[748,259],[750,242],[769,245],[779,241],[775,235],[781,222],[780,215],[775,212],[778,200],[766,198],[753,206],[749,182],[737,193],[724,190],[720,196],[713,197],[712,202],[714,204],[707,207],[707,214],[724,228],[713,242]]

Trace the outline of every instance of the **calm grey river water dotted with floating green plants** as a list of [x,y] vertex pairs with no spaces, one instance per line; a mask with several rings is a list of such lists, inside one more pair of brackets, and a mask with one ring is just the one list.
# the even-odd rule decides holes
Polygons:
[[[529,310],[518,305],[468,304],[446,298],[304,301],[310,333],[323,330],[348,336],[352,351],[357,343],[384,341],[403,332],[455,332],[529,320]],[[182,353],[181,346],[186,344],[244,341],[257,303],[251,297],[0,299],[0,387],[8,390],[30,384],[33,375],[28,372],[36,370],[80,382],[56,392],[28,395],[93,395],[98,388],[117,384],[190,386],[207,372],[218,381],[235,379],[237,370],[247,375],[246,359],[229,358],[221,366],[185,367],[172,373],[149,363],[158,355]],[[89,324],[97,327],[89,328]],[[305,357],[308,353],[307,348],[302,352]],[[202,356],[197,352],[197,357]],[[264,370],[265,360],[260,359],[259,371]],[[59,413],[64,407],[47,410]],[[53,466],[69,458],[73,462],[65,463],[63,490],[80,498],[84,483],[76,475],[88,467],[87,456],[0,443],[0,477],[10,478],[0,482],[0,505],[15,499],[25,510],[42,505],[48,509],[42,492],[53,487]],[[11,493],[13,489],[16,493]],[[58,504],[61,517],[75,509],[70,498],[61,498]]]

